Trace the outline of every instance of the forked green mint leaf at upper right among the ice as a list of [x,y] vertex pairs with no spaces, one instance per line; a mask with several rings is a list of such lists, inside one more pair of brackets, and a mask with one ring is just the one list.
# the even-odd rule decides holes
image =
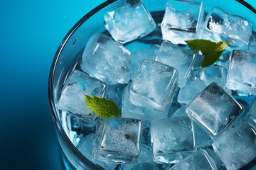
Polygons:
[[192,50],[200,50],[203,53],[203,61],[201,62],[201,67],[208,67],[220,58],[231,40],[228,42],[212,42],[210,40],[186,40],[185,42]]

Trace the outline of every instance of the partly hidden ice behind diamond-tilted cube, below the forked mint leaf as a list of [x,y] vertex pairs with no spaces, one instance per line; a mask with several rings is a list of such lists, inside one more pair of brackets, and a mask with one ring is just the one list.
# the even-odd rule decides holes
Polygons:
[[226,89],[226,78],[227,69],[218,65],[194,70],[191,77],[188,79],[186,86],[180,89],[178,93],[178,102],[185,104],[191,103],[191,101],[193,101],[193,99],[212,82],[218,83]]

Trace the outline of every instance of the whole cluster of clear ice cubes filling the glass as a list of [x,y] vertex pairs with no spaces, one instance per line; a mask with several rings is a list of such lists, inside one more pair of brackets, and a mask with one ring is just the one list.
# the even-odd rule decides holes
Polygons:
[[[111,37],[92,35],[57,105],[83,122],[73,136],[90,127],[75,144],[87,159],[104,169],[229,170],[253,164],[256,101],[241,99],[256,95],[250,21],[220,7],[206,16],[201,2],[186,0],[168,0],[161,24],[139,0],[120,1],[104,19]],[[162,40],[143,39],[156,26]],[[196,38],[233,40],[233,51],[201,68],[203,56],[184,47]],[[110,98],[122,118],[98,118],[85,94]]]

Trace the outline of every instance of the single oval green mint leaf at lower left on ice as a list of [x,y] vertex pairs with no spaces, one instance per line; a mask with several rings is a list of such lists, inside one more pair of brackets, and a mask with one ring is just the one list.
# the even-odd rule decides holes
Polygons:
[[120,118],[119,108],[116,103],[106,98],[85,95],[87,106],[100,118]]

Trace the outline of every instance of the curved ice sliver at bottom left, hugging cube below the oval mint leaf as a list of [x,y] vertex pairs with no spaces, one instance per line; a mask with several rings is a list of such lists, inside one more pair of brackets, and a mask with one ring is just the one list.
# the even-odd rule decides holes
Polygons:
[[95,141],[95,137],[96,137],[96,134],[94,133],[91,133],[83,137],[82,140],[78,143],[78,146],[77,146],[78,150],[93,164],[100,165],[104,169],[114,169],[117,166],[117,164],[100,162],[93,157],[92,148],[93,148],[93,143]]

